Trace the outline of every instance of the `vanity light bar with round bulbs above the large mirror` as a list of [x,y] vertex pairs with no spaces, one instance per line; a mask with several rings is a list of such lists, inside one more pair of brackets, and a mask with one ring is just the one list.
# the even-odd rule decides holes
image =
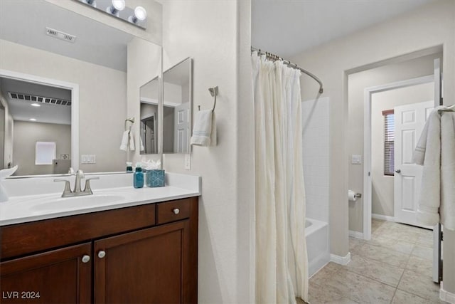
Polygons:
[[[1,1],[1,0],[0,0]],[[82,4],[90,6],[92,9],[102,11],[109,16],[116,17],[129,24],[146,28],[147,11],[142,6],[132,9],[125,4],[125,0],[77,0]]]

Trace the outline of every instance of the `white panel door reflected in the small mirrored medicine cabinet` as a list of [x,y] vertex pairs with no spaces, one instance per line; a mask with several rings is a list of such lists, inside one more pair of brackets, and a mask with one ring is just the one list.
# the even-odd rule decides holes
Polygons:
[[190,138],[190,103],[182,103],[174,110],[173,149],[175,153],[189,153]]

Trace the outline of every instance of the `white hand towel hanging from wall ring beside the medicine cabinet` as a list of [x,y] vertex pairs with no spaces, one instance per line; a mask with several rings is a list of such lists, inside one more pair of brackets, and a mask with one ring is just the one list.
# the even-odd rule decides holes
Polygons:
[[216,120],[212,110],[203,110],[196,114],[191,145],[216,145]]

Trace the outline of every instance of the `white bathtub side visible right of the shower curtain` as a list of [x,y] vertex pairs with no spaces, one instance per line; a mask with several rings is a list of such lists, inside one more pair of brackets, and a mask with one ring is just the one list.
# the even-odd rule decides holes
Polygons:
[[330,261],[328,224],[307,218],[305,221],[305,237],[308,253],[308,275],[311,277]]

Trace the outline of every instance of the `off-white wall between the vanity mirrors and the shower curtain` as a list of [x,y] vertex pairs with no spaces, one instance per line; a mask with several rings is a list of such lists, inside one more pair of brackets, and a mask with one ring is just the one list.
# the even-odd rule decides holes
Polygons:
[[[211,108],[218,85],[218,146],[164,155],[164,168],[202,177],[199,200],[199,303],[247,303],[254,204],[254,133],[250,78],[250,1],[162,1],[164,69],[193,58],[193,117]],[[242,63],[242,64],[240,64]],[[246,140],[246,142],[244,142]],[[241,168],[241,169],[239,169]],[[253,251],[254,252],[254,251]]]

